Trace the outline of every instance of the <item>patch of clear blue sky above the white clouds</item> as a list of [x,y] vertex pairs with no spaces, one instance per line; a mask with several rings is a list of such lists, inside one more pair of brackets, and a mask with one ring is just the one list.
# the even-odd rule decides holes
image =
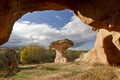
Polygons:
[[54,28],[60,29],[61,27],[64,27],[68,22],[70,22],[70,18],[73,15],[73,12],[67,9],[61,11],[36,11],[33,13],[25,14],[18,21],[30,21],[37,24],[47,23]]

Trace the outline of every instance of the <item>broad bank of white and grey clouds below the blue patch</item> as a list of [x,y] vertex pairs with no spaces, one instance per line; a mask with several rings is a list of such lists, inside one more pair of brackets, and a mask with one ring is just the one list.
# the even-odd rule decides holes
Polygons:
[[23,46],[29,43],[38,43],[48,48],[52,41],[59,39],[70,39],[75,43],[72,49],[79,49],[80,46],[95,39],[96,32],[81,23],[77,16],[64,27],[57,29],[48,24],[35,24],[29,21],[15,22],[9,41],[4,46]]

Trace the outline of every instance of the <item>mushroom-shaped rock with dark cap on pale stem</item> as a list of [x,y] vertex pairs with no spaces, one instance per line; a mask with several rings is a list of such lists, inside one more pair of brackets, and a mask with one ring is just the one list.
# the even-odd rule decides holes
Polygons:
[[55,63],[65,63],[68,61],[66,55],[64,54],[64,50],[68,49],[69,47],[73,46],[74,43],[71,40],[63,39],[58,41],[53,41],[50,44],[50,48],[54,48],[56,50],[56,58]]

